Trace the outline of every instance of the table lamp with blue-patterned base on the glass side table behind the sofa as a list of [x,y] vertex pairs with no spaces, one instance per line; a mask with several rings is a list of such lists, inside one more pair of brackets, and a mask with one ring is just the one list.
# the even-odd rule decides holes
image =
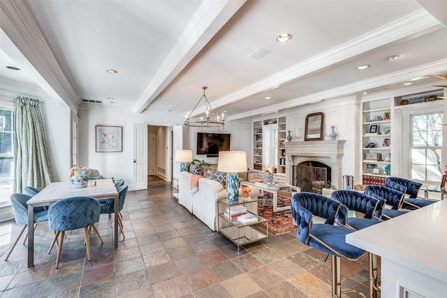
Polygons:
[[239,197],[239,177],[237,172],[247,172],[247,154],[244,151],[220,151],[217,170],[227,173],[227,202],[237,202]]

